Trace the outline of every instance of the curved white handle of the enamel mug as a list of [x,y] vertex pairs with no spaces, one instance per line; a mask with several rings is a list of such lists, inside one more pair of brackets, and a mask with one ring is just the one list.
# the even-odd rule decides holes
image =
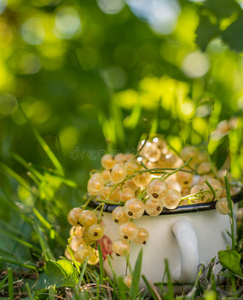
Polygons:
[[179,283],[193,283],[197,277],[199,252],[197,236],[189,221],[181,219],[172,225],[181,254],[181,268],[174,278]]

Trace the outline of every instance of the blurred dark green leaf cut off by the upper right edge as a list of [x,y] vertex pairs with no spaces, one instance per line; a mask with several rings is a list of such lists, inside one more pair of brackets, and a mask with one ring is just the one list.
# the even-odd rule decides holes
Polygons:
[[222,32],[223,41],[235,51],[243,51],[243,15]]

